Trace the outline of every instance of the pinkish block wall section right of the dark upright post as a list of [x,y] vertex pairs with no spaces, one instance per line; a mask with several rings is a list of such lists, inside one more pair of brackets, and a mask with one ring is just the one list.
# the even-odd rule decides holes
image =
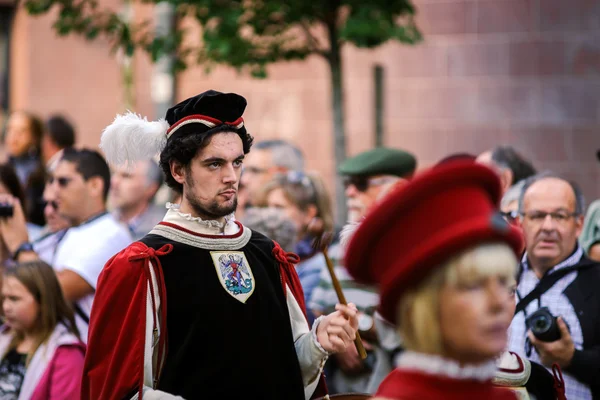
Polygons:
[[[600,193],[600,2],[417,3],[423,45],[390,45],[390,143],[423,163],[514,145]],[[386,50],[377,55],[385,58]],[[395,67],[391,63],[397,64]]]

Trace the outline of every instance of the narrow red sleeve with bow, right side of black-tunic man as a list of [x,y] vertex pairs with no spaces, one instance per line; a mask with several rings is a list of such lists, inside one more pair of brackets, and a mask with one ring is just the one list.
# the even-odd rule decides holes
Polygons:
[[[274,242],[275,247],[273,248],[273,255],[277,262],[279,263],[279,274],[281,275],[281,285],[283,286],[283,293],[286,293],[286,284],[287,287],[290,288],[294,298],[298,302],[298,305],[302,309],[304,313],[304,317],[306,318],[306,304],[304,303],[304,291],[302,290],[302,285],[300,284],[300,278],[298,277],[298,273],[296,272],[296,266],[300,261],[300,258],[294,253],[287,253],[285,250],[281,248],[279,243]],[[311,399],[316,399],[318,397],[323,397],[328,394],[327,385],[325,384],[325,376],[321,374],[321,378],[319,379],[319,384],[315,389]]]

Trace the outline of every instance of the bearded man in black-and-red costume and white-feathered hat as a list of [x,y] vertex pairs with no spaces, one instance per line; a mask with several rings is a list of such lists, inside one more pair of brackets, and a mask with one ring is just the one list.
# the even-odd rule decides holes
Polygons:
[[327,357],[354,345],[356,308],[310,328],[297,257],[234,218],[252,145],[245,107],[208,91],[166,121],[126,114],[103,132],[114,163],[160,151],[182,200],[100,275],[82,398],[308,399]]

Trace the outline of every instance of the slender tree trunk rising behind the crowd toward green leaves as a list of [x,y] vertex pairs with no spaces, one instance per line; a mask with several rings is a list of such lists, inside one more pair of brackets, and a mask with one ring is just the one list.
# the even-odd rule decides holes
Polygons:
[[344,123],[344,90],[342,79],[342,54],[338,41],[335,20],[327,24],[330,43],[328,57],[331,71],[331,109],[333,111],[334,156],[335,156],[335,221],[346,223],[346,195],[342,177],[337,174],[337,167],[346,159],[346,128]]

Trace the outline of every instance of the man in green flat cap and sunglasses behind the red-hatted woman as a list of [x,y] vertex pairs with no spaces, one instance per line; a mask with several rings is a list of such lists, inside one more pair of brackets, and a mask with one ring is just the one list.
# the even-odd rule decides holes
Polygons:
[[[386,147],[365,151],[344,161],[338,167],[338,172],[344,176],[349,225],[356,226],[392,187],[412,177],[416,166],[417,162],[412,154]],[[327,374],[330,377],[328,385],[333,393],[374,393],[385,377],[385,374],[374,373],[377,369],[376,362],[382,361],[376,360],[377,332],[373,318],[379,295],[376,288],[354,282],[340,263],[344,253],[343,242],[344,232],[342,244],[332,246],[329,255],[335,263],[335,274],[346,299],[356,304],[360,312],[358,328],[368,356],[366,360],[361,360],[354,348],[350,348],[343,355],[334,356],[334,365],[330,366],[332,371]],[[323,270],[308,308],[317,316],[326,315],[335,308],[337,302],[331,277],[327,270]],[[377,354],[383,352],[377,351]]]

